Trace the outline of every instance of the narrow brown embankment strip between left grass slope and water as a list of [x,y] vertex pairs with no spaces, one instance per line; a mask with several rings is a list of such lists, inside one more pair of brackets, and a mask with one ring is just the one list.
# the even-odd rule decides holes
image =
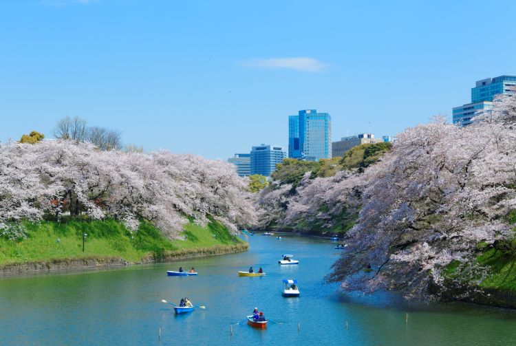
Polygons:
[[181,250],[155,253],[144,257],[141,261],[129,262],[120,257],[80,257],[49,259],[25,263],[8,263],[0,266],[0,274],[14,274],[21,272],[41,272],[50,270],[68,270],[80,268],[96,268],[107,266],[130,266],[143,263],[166,263],[195,257],[227,255],[249,250],[249,244],[217,245],[206,248],[186,248]]

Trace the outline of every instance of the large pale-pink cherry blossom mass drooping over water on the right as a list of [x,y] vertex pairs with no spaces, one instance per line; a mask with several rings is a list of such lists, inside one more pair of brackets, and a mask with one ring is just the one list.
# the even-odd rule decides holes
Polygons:
[[478,288],[489,268],[477,256],[514,237],[515,98],[500,96],[468,127],[437,118],[400,134],[365,172],[360,217],[329,279],[416,299]]

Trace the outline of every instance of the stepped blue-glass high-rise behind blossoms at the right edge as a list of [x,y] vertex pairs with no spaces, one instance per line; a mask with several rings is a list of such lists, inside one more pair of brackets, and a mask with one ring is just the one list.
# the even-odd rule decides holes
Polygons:
[[513,94],[511,90],[513,87],[516,87],[516,76],[477,80],[475,87],[471,88],[471,103],[453,107],[453,124],[458,126],[471,124],[471,118],[477,111],[491,110],[493,98],[498,94]]

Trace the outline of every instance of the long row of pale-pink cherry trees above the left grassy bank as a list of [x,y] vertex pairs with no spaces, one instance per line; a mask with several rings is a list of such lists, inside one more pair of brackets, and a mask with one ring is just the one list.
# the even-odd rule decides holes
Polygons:
[[233,166],[166,151],[100,151],[93,144],[46,140],[0,145],[0,228],[63,213],[114,217],[131,230],[140,221],[178,237],[207,215],[232,230],[255,220],[246,182]]

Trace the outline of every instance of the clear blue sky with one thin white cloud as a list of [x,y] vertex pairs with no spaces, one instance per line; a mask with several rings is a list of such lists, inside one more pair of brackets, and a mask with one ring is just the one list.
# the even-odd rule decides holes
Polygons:
[[288,144],[319,109],[332,139],[395,134],[516,74],[516,1],[20,0],[0,3],[0,141],[58,119],[226,159]]

